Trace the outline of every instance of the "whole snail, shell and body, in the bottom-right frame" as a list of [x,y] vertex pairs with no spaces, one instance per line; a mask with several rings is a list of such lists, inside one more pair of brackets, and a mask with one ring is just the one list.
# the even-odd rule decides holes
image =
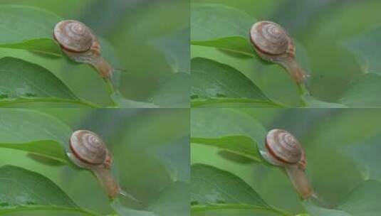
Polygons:
[[306,153],[292,134],[281,129],[269,131],[266,135],[266,151],[261,151],[261,155],[269,163],[285,168],[303,199],[315,196],[305,173]]

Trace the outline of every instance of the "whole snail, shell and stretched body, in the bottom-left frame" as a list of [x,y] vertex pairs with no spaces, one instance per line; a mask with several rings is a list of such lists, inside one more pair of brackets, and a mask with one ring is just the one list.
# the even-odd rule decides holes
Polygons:
[[68,153],[68,157],[71,158],[71,161],[81,168],[93,171],[110,198],[124,195],[140,202],[120,188],[111,172],[113,157],[100,136],[91,131],[75,131],[71,135],[69,147],[71,153]]

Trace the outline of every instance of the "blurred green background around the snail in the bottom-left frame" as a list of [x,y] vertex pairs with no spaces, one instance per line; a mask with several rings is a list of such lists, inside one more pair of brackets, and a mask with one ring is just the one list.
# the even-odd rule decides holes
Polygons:
[[[57,117],[73,130],[99,134],[114,156],[114,171],[123,189],[143,204],[122,198],[126,207],[141,209],[155,200],[174,180],[189,183],[188,109],[38,109]],[[176,122],[176,124],[173,124]],[[14,165],[36,171],[53,180],[80,207],[102,215],[113,212],[98,180],[90,171],[60,166],[24,151],[1,148],[0,166]],[[45,162],[45,163],[41,163]],[[178,177],[174,179],[175,175]],[[174,195],[174,203],[187,206],[187,194]],[[182,197],[182,198],[180,198]],[[173,209],[162,206],[163,210]],[[68,215],[63,212],[28,212],[28,215]],[[26,215],[26,212],[9,215]],[[70,213],[72,215],[72,213]]]

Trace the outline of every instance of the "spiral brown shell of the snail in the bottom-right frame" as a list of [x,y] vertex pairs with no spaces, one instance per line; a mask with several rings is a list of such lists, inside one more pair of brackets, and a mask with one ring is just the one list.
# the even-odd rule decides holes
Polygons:
[[288,131],[273,129],[266,136],[268,153],[283,163],[306,164],[304,151],[299,141]]

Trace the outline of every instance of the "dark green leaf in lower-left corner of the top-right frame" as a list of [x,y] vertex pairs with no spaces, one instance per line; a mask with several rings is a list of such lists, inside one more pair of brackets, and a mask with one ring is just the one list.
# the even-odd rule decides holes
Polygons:
[[229,65],[206,58],[194,58],[191,65],[193,99],[212,99],[214,103],[226,99],[230,103],[234,102],[233,99],[242,103],[243,99],[253,99],[251,104],[262,102],[276,106],[249,78]]

